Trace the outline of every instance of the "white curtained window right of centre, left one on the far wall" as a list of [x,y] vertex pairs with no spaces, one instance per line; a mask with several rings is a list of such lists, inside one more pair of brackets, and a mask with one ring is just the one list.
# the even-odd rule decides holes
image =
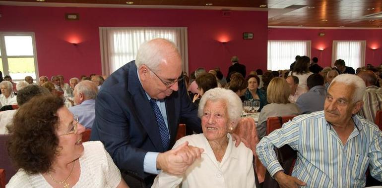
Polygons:
[[311,41],[268,41],[268,70],[289,69],[296,55],[311,56]]

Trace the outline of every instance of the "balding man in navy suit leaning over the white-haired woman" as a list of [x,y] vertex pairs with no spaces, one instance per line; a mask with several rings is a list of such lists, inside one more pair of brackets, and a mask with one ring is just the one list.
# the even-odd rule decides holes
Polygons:
[[173,43],[148,41],[97,95],[91,140],[104,143],[130,187],[151,186],[158,170],[183,174],[203,152],[188,143],[169,150],[180,122],[202,132],[181,81],[181,62]]

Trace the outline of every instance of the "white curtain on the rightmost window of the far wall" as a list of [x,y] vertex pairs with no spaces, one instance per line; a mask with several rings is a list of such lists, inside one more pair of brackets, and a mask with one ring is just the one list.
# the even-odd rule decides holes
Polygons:
[[357,69],[365,66],[366,41],[333,41],[331,66],[334,61],[343,59],[346,66]]

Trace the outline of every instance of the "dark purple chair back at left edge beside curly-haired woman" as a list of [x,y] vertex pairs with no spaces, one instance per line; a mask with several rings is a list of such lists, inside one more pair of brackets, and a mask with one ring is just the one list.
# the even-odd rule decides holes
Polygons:
[[8,141],[8,139],[9,135],[0,135],[0,168],[4,169],[7,174],[5,177],[5,184],[7,184],[10,178],[17,172],[8,155],[6,147],[6,141]]

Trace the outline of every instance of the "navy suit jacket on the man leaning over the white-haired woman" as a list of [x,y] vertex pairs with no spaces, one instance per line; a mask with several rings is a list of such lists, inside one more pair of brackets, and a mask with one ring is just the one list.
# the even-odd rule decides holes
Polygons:
[[[182,123],[201,133],[197,108],[187,95],[184,82],[179,91],[165,98],[171,148]],[[115,71],[102,85],[95,103],[92,141],[102,141],[118,168],[152,184],[154,175],[143,171],[147,151],[164,152],[150,102],[139,82],[135,61]]]

